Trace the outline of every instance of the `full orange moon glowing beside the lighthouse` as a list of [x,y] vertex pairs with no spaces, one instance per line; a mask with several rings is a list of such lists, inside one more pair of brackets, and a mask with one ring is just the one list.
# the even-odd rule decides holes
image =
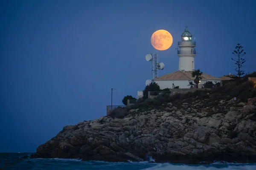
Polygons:
[[157,30],[151,36],[151,44],[157,50],[167,50],[172,45],[172,34],[163,29]]

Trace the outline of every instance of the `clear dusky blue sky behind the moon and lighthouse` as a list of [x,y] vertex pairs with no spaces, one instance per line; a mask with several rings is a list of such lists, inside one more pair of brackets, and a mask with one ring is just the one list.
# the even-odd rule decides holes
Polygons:
[[255,0],[1,0],[0,152],[35,152],[65,125],[105,116],[151,78],[154,28],[173,36],[159,51],[178,69],[184,27],[197,41],[195,68],[234,73],[237,43],[255,69]]

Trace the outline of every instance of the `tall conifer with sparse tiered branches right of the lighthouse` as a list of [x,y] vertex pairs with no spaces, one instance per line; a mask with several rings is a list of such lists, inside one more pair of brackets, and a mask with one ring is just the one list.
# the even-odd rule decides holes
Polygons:
[[246,54],[246,52],[244,52],[244,49],[242,49],[243,47],[240,44],[236,45],[236,48],[234,50],[234,52],[232,54],[234,54],[237,59],[233,59],[231,58],[234,62],[235,62],[235,71],[237,72],[237,76],[241,77],[242,75],[244,75],[244,71],[241,70],[242,67],[244,67],[244,62],[246,61],[243,56]]

